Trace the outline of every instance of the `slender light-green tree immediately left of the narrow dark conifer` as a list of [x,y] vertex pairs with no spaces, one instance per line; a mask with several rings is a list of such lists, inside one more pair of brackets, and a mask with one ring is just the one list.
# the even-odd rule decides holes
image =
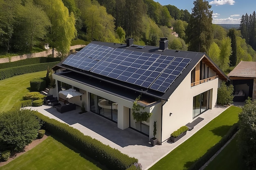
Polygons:
[[223,38],[220,46],[220,69],[226,71],[229,68],[229,56],[232,54],[231,39]]

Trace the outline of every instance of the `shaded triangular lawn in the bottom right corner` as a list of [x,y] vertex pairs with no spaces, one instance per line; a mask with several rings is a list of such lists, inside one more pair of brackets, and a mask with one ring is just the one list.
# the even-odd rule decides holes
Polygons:
[[239,155],[237,138],[236,135],[204,170],[246,170],[245,162]]

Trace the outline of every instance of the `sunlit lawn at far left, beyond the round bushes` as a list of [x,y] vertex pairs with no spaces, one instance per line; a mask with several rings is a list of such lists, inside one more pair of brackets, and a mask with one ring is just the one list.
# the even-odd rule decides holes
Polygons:
[[17,75],[0,80],[0,112],[10,110],[22,96],[29,92],[30,80],[45,77],[47,71]]

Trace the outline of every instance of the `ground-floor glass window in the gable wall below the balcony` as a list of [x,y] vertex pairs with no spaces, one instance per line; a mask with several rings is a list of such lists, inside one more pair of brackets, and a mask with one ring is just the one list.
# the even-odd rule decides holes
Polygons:
[[193,118],[209,108],[209,91],[193,97]]

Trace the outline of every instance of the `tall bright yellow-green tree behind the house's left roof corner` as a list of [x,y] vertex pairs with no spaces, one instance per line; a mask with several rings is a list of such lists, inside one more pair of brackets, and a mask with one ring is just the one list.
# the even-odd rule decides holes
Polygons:
[[54,48],[64,56],[69,52],[71,40],[75,38],[74,13],[69,14],[61,0],[37,0],[37,3],[43,7],[51,22],[47,38],[52,46],[52,56]]

